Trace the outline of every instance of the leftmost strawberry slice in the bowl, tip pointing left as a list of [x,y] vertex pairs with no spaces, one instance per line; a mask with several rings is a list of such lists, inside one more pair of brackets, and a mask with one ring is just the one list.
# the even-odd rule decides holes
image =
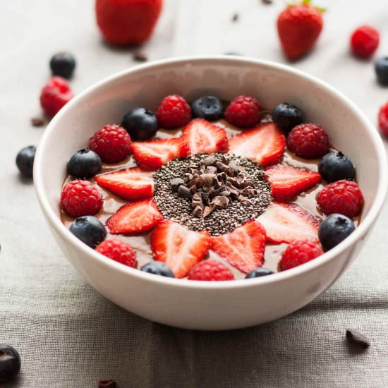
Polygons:
[[124,200],[152,198],[154,193],[152,173],[138,167],[99,174],[95,176],[95,181]]

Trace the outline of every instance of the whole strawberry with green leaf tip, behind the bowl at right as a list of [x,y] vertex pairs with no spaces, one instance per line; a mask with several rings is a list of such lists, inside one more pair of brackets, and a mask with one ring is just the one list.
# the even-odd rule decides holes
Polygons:
[[277,18],[277,32],[284,54],[293,60],[313,48],[322,31],[322,9],[310,5],[310,0],[293,4]]

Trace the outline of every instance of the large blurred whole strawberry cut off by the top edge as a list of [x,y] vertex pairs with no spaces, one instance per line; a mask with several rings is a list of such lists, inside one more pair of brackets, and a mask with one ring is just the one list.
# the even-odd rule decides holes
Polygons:
[[142,44],[150,38],[162,0],[96,0],[99,30],[110,44]]

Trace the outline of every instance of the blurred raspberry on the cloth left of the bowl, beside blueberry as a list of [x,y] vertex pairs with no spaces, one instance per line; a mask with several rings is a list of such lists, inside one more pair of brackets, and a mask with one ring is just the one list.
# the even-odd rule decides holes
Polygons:
[[40,104],[48,116],[54,116],[72,98],[68,82],[61,77],[51,78],[40,92]]

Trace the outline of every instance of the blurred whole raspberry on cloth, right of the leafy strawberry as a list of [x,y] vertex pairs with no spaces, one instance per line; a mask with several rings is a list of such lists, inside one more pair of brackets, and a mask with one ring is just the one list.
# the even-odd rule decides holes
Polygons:
[[377,49],[380,42],[379,32],[370,25],[361,25],[351,35],[351,51],[360,58],[368,58]]

